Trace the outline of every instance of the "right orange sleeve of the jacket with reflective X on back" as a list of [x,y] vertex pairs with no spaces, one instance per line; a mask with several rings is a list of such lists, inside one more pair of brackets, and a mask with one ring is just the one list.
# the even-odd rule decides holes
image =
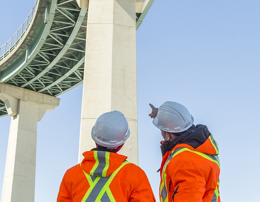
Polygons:
[[153,190],[148,178],[142,169],[139,169],[135,189],[129,197],[129,202],[152,202],[155,201]]

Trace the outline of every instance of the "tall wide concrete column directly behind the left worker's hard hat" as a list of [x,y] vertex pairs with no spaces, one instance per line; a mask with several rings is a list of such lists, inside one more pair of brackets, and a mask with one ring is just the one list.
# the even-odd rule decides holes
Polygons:
[[135,0],[90,0],[86,39],[79,162],[96,119],[118,110],[131,131],[119,153],[138,164]]

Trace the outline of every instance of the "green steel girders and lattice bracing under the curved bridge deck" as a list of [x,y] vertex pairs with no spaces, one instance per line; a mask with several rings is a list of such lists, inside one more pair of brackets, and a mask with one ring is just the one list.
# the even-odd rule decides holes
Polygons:
[[[79,8],[75,0],[50,0],[49,5],[47,23],[42,20],[37,30],[34,26],[28,30],[36,34],[27,50],[7,67],[0,59],[0,82],[59,96],[83,83],[87,9]],[[35,15],[44,16],[37,10]],[[136,14],[137,28],[146,13]],[[0,101],[0,117],[4,115],[7,111]]]

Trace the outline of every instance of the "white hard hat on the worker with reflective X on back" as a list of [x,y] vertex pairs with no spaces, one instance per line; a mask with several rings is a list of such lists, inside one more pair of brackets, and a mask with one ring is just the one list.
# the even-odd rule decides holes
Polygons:
[[91,131],[92,139],[103,147],[118,147],[125,143],[129,136],[127,120],[119,111],[100,115]]

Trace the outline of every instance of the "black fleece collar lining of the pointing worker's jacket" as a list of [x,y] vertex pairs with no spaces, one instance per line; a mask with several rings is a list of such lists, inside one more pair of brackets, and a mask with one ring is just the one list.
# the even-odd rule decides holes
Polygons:
[[198,124],[192,125],[188,130],[179,135],[172,141],[164,141],[161,144],[161,153],[162,156],[166,152],[171,151],[177,144],[187,144],[192,146],[194,149],[205,143],[205,141],[210,136],[207,126]]

